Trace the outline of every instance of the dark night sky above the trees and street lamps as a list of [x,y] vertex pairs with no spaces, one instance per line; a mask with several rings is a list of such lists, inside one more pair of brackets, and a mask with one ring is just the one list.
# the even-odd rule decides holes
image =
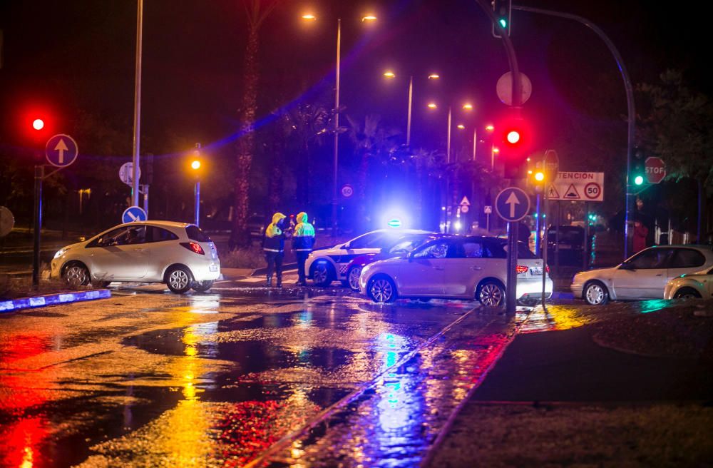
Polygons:
[[[665,68],[681,68],[692,86],[709,91],[700,11],[688,16],[690,11],[635,1],[520,4],[595,22],[620,49],[634,83],[655,82]],[[299,16],[308,10],[318,19],[305,24]],[[376,24],[359,21],[367,11],[379,16]],[[21,113],[37,107],[51,109],[56,128],[67,133],[79,112],[91,113],[125,131],[130,145],[135,14],[135,2],[128,0],[4,1],[0,142],[21,144]],[[506,111],[495,93],[498,77],[508,70],[506,55],[475,1],[280,1],[260,36],[261,118],[294,103],[333,102],[338,17],[347,115],[363,121],[379,114],[405,132],[409,74],[415,146],[445,139],[444,107],[429,112],[429,100],[476,106],[469,116],[454,111],[454,125],[484,125]],[[595,34],[572,21],[522,11],[513,11],[512,24],[520,70],[533,82],[525,114],[537,122],[540,146],[561,138],[561,123],[577,118],[620,125],[625,135],[624,88]],[[161,148],[168,135],[205,146],[235,133],[245,28],[237,0],[145,1],[142,132],[153,138],[153,151],[175,151]],[[386,68],[397,74],[394,81],[382,78]],[[440,82],[428,82],[431,71],[441,74]],[[597,115],[593,101],[610,101],[614,111]]]

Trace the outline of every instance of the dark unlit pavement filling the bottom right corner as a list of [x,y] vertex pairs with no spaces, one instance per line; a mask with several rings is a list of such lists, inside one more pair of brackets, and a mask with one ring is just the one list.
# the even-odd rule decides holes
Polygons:
[[713,317],[696,310],[713,304],[696,302],[518,335],[428,466],[710,466]]

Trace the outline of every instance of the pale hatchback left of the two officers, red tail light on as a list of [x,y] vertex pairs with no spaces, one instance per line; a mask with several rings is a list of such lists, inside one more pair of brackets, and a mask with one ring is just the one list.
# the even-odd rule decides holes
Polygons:
[[52,259],[51,276],[70,285],[166,283],[179,294],[190,288],[205,292],[220,276],[220,260],[198,226],[143,221],[61,248]]

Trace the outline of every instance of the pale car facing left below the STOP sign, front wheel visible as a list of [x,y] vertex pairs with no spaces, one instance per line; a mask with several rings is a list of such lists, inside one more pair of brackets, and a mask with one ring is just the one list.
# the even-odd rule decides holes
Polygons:
[[591,305],[609,300],[662,299],[670,280],[713,267],[709,245],[657,245],[614,268],[577,273],[571,289]]

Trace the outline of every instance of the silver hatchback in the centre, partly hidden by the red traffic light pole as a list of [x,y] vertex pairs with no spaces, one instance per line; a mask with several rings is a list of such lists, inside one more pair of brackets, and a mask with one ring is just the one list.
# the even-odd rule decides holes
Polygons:
[[[518,243],[517,290],[521,303],[534,303],[552,295],[543,260],[525,243]],[[361,270],[359,290],[374,302],[397,297],[477,299],[488,307],[505,303],[507,240],[484,236],[453,235],[431,240],[408,255],[371,263]]]

